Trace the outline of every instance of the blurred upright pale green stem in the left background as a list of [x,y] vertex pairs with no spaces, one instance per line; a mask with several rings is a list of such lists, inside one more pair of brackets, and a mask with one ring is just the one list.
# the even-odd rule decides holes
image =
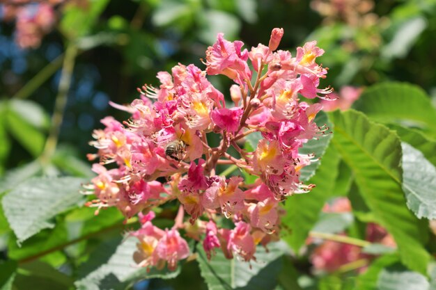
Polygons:
[[67,104],[68,91],[71,86],[72,70],[75,66],[75,58],[77,56],[77,47],[71,43],[68,45],[65,51],[65,58],[63,58],[63,68],[61,73],[61,79],[59,80],[58,95],[54,102],[54,112],[52,115],[52,124],[49,129],[49,136],[45,143],[44,151],[40,156],[42,164],[49,163],[50,159],[56,150],[58,143],[59,131],[63,120],[63,113]]

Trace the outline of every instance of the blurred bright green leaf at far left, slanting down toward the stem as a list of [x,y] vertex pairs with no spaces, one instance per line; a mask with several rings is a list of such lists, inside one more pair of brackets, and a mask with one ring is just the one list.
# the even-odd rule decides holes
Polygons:
[[33,156],[38,157],[45,145],[45,135],[15,111],[6,114],[8,131]]

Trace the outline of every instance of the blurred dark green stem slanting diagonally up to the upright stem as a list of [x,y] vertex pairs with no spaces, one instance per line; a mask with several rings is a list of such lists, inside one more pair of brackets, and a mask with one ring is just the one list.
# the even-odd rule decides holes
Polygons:
[[36,76],[33,76],[33,78],[28,81],[18,92],[13,95],[13,99],[26,99],[30,95],[32,95],[33,92],[35,92],[36,89],[38,89],[42,83],[45,83],[47,79],[49,79],[52,74],[56,72],[56,70],[59,70],[59,67],[61,67],[63,63],[64,55],[61,54],[57,58],[54,59],[51,63],[46,65]]

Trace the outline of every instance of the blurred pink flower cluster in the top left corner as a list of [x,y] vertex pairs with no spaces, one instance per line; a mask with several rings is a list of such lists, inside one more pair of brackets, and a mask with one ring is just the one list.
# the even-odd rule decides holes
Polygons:
[[56,22],[54,6],[63,0],[10,0],[1,6],[3,21],[15,19],[15,42],[22,48],[40,46],[41,38],[52,31]]

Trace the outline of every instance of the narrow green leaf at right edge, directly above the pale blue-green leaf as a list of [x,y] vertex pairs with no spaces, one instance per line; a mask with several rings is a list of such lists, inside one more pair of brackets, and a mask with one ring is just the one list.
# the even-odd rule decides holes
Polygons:
[[405,128],[396,124],[387,124],[387,126],[396,131],[401,140],[409,143],[417,150],[421,151],[426,159],[436,166],[436,140],[428,138],[428,136],[416,129]]

